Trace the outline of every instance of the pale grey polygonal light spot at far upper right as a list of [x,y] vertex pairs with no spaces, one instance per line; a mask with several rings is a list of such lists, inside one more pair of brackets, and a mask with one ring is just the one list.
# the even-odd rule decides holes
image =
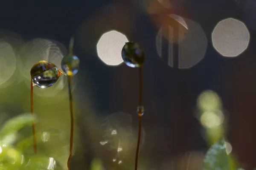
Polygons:
[[239,20],[221,20],[212,31],[212,45],[223,57],[238,57],[250,41],[250,33]]

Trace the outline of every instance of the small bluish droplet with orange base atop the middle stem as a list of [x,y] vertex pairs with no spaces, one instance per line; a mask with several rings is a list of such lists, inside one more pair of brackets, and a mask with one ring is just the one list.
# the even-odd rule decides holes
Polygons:
[[68,53],[61,60],[61,69],[68,76],[74,76],[77,74],[79,69],[79,58],[73,54]]

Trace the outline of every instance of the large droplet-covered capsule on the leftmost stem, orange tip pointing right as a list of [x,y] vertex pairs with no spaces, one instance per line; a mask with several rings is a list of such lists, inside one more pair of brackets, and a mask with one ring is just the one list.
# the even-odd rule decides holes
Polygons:
[[40,61],[33,65],[30,71],[33,85],[48,88],[57,82],[61,71],[51,62]]

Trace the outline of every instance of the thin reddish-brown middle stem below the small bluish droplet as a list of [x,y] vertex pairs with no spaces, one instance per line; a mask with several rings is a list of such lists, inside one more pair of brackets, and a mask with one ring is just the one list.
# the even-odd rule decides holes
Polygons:
[[67,76],[68,79],[68,94],[69,94],[69,102],[70,102],[70,155],[67,159],[67,168],[70,170],[70,160],[72,157],[73,151],[73,133],[74,133],[74,115],[73,115],[73,99],[71,94],[71,76]]

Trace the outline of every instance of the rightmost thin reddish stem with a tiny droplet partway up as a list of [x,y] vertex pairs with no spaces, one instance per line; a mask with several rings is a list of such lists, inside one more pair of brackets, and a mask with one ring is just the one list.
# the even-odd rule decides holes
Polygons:
[[[140,91],[139,91],[139,106],[142,106],[142,67],[140,67]],[[141,119],[142,119],[142,108],[139,111],[139,132],[138,132],[138,142],[137,142],[137,149],[136,149],[136,156],[135,156],[135,168],[137,170],[138,167],[138,157],[139,157],[139,150],[140,150],[140,136],[141,136]]]

